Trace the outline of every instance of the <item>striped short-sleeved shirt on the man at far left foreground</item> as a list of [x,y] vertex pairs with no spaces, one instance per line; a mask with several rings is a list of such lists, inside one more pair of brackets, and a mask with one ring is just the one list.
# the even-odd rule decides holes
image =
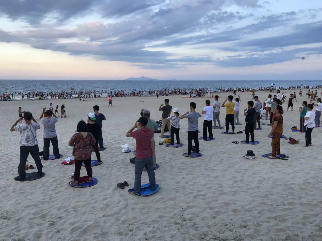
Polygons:
[[14,129],[20,133],[20,146],[35,146],[38,145],[37,130],[40,128],[38,123],[32,122],[30,125],[22,123],[15,126]]

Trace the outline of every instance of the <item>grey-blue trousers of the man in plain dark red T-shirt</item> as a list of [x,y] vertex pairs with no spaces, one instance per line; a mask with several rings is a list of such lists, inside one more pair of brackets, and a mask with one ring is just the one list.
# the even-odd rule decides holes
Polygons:
[[134,166],[134,173],[135,173],[135,179],[134,179],[134,191],[136,193],[141,191],[141,175],[143,168],[147,169],[147,174],[149,176],[149,182],[150,182],[150,189],[155,190],[156,189],[156,176],[154,174],[154,168],[153,168],[153,157],[150,156],[145,159],[138,159],[135,158],[135,166]]

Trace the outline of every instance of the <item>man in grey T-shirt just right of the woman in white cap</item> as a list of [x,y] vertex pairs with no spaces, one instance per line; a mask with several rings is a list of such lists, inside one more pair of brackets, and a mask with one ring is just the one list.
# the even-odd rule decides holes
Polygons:
[[199,112],[196,112],[196,103],[190,103],[190,112],[184,113],[180,119],[188,119],[188,154],[185,155],[190,157],[192,149],[192,140],[196,147],[196,156],[199,156],[199,138],[198,138],[198,118],[201,117]]

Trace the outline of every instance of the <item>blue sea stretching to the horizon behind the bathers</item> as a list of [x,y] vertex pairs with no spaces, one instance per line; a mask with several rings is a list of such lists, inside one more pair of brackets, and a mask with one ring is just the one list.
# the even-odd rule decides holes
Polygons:
[[[0,93],[11,92],[70,92],[71,88],[74,91],[138,91],[138,90],[161,90],[161,89],[190,89],[190,88],[238,88],[238,87],[269,87],[271,84],[276,84],[278,87],[309,85],[310,88],[315,85],[322,85],[322,80],[300,80],[300,81],[285,81],[285,80],[167,80],[167,81],[137,81],[137,80],[0,80]],[[16,96],[17,97],[17,96]]]

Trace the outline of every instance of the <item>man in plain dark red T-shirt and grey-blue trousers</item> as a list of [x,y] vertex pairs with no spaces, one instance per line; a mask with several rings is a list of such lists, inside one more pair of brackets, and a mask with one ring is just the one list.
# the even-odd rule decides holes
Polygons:
[[[141,175],[143,168],[147,170],[149,176],[150,189],[156,189],[156,176],[153,168],[153,151],[151,147],[151,138],[154,135],[154,130],[147,128],[147,118],[142,116],[135,122],[134,126],[126,133],[127,137],[133,137],[136,140],[136,155],[135,155],[135,179],[134,191],[139,193],[141,191]],[[140,129],[133,131],[137,127]]]

